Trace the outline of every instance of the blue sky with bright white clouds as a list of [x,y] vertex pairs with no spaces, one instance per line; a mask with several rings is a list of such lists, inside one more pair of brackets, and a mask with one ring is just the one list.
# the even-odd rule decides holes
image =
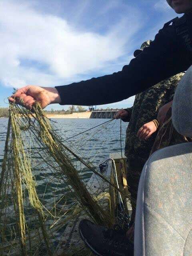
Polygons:
[[13,87],[66,85],[122,70],[175,16],[166,0],[1,0],[0,107]]

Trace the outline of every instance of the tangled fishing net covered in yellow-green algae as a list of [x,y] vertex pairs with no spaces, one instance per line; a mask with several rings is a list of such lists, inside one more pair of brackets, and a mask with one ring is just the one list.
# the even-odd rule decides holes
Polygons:
[[113,224],[99,194],[87,190],[77,170],[84,164],[96,172],[94,166],[62,143],[38,104],[33,113],[16,104],[9,111],[0,178],[0,255],[91,255],[82,246],[62,251],[62,233],[83,214],[98,224]]

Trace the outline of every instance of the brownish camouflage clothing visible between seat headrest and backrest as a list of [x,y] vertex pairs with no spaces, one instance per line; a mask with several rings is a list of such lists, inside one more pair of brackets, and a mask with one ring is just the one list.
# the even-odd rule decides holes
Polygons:
[[160,148],[165,148],[168,146],[185,142],[192,142],[192,138],[183,136],[175,130],[172,124],[171,113],[172,109],[170,108],[166,114],[164,123],[162,124],[158,131],[150,154],[152,154],[153,152]]

